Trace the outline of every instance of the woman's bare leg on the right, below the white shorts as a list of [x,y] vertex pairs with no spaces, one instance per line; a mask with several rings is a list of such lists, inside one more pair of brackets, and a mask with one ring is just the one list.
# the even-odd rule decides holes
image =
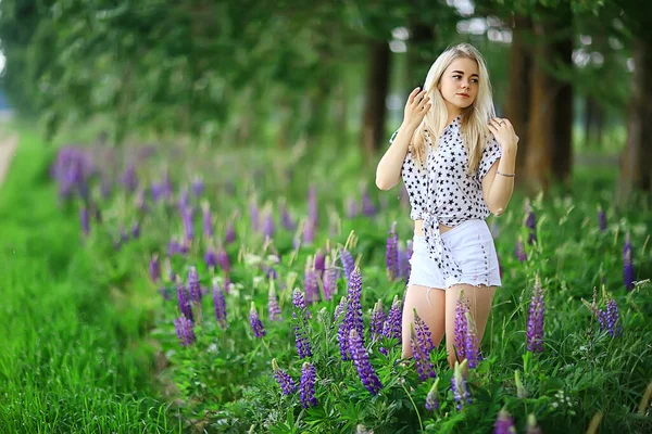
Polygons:
[[464,297],[469,305],[471,316],[476,323],[479,347],[479,343],[482,342],[482,336],[485,335],[485,328],[487,327],[489,314],[491,312],[496,286],[456,284],[446,290],[446,348],[448,350],[448,360],[451,368],[455,366],[456,360],[453,346],[455,340],[455,306],[462,291],[464,291]]

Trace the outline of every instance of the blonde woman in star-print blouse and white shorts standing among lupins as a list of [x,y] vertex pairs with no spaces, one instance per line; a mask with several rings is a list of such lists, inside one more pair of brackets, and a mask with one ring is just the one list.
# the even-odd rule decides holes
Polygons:
[[403,358],[412,356],[410,324],[416,308],[435,346],[444,333],[449,336],[448,360],[454,366],[455,305],[461,294],[481,341],[496,288],[501,285],[485,219],[502,214],[510,202],[517,143],[511,123],[496,117],[487,66],[468,43],[439,55],[424,89],[410,93],[403,123],[376,170],[381,190],[403,179],[414,220]]

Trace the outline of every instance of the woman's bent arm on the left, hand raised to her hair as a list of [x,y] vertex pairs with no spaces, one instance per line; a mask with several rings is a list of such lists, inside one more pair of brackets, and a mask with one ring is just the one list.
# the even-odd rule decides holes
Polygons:
[[416,88],[408,97],[403,124],[399,128],[399,133],[394,138],[389,149],[380,158],[376,168],[376,187],[380,190],[389,190],[401,180],[401,167],[408,154],[410,141],[414,130],[421,125],[424,116],[430,108],[429,98],[426,91]]

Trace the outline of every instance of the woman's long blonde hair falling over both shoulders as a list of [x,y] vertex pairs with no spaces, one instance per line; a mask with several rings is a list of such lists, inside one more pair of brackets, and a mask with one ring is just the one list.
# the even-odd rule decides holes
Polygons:
[[446,69],[459,58],[475,61],[480,76],[475,101],[468,107],[463,108],[461,113],[461,135],[468,154],[468,173],[473,174],[480,164],[482,151],[491,133],[487,124],[496,117],[496,110],[491,97],[491,82],[489,81],[487,65],[480,52],[471,43],[460,43],[448,48],[430,66],[424,88],[430,97],[432,106],[414,131],[411,141],[412,155],[423,167],[426,159],[426,135],[430,135],[432,138],[435,150],[439,145],[439,135],[447,125],[448,111],[438,86]]

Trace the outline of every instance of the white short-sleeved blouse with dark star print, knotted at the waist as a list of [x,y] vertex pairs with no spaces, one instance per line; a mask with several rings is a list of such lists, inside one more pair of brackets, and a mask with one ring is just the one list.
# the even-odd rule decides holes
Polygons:
[[[460,279],[462,270],[454,261],[450,248],[441,242],[439,224],[455,227],[469,219],[486,219],[491,212],[482,196],[482,178],[502,152],[496,138],[482,150],[482,157],[475,174],[468,175],[468,153],[462,141],[461,116],[449,124],[439,138],[439,146],[432,151],[429,135],[427,139],[426,167],[419,168],[408,150],[401,177],[408,190],[410,218],[424,220],[424,235],[430,257],[438,265],[444,278]],[[397,130],[389,139],[393,142]]]

